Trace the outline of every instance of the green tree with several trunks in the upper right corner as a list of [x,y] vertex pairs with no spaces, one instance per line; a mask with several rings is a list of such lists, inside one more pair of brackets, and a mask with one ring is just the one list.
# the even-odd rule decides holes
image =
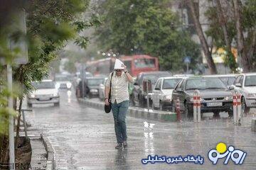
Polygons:
[[255,71],[256,1],[248,0],[245,3],[239,0],[209,1],[213,2],[213,6],[206,11],[206,16],[210,21],[210,28],[206,34],[213,38],[215,47],[223,47],[227,51],[225,64],[233,72],[238,67],[231,52],[231,47],[235,47],[241,58],[238,62],[241,62],[245,72]]

